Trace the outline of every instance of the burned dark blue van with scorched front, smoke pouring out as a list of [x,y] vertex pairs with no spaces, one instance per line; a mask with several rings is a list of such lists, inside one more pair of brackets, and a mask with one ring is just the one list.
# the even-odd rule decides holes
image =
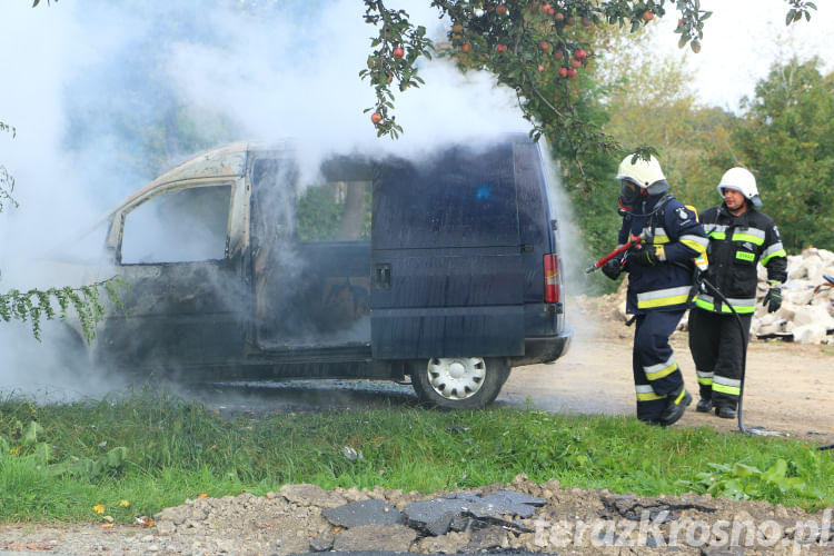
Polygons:
[[475,408],[569,334],[556,217],[526,136],[419,159],[235,143],[108,215],[128,285],[93,344],[111,367],[197,378],[410,377]]

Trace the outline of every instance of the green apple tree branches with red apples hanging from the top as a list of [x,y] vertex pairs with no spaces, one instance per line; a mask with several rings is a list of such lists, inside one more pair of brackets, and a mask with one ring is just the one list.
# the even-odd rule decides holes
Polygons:
[[[788,0],[790,21],[810,18],[813,2]],[[673,2],[668,2],[672,4]],[[365,0],[366,21],[378,27],[368,68],[360,72],[371,81],[377,101],[371,121],[378,135],[397,137],[391,86],[400,90],[421,82],[417,62],[429,58],[434,44],[425,30],[415,28],[404,11],[390,11],[384,0]],[[570,159],[584,176],[583,161],[617,143],[582,109],[588,78],[585,68],[594,59],[597,26],[618,26],[632,32],[666,13],[666,0],[564,0],[547,3],[533,0],[431,0],[441,16],[451,20],[448,41],[461,64],[493,72],[499,83],[513,89],[530,135],[564,140]],[[701,10],[698,0],[676,0],[679,20],[675,32],[679,47],[697,52],[704,21],[712,12]],[[381,24],[380,24],[381,23]],[[576,79],[578,78],[578,79]],[[368,109],[368,111],[371,108]],[[566,149],[562,149],[566,150]],[[584,186],[589,187],[589,186]]]

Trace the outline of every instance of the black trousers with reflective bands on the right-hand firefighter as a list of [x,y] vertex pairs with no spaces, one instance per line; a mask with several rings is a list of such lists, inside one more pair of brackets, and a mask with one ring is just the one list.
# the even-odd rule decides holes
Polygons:
[[698,389],[713,407],[736,408],[742,394],[742,361],[747,350],[753,315],[724,315],[694,308],[689,311],[689,351]]

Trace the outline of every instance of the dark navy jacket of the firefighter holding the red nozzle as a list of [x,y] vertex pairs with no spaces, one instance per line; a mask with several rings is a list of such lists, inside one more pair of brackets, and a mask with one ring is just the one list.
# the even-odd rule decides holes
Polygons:
[[642,315],[649,310],[686,309],[692,300],[694,259],[707,246],[695,214],[672,193],[654,195],[624,214],[619,245],[625,245],[629,235],[643,235],[645,244],[657,249],[659,260],[643,266],[628,260],[633,254],[626,255],[626,311]]

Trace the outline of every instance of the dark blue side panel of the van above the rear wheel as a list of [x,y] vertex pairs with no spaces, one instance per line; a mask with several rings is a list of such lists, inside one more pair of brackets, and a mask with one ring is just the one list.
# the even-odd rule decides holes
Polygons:
[[524,354],[513,145],[387,161],[374,180],[377,359]]

